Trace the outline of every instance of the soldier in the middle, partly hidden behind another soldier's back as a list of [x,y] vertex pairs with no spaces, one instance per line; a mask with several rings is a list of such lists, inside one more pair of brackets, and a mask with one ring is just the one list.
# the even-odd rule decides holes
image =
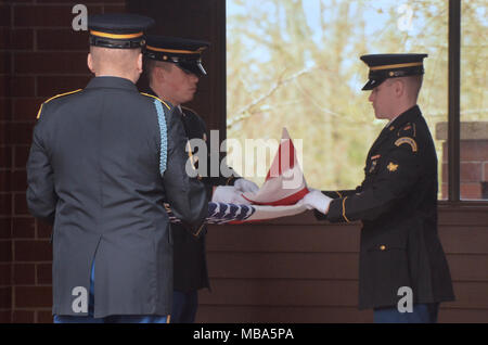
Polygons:
[[[191,139],[208,141],[205,122],[198,114],[182,104],[190,102],[196,92],[198,79],[207,73],[202,64],[202,52],[209,46],[206,41],[175,37],[147,36],[145,47],[145,73],[150,84],[147,93],[170,102],[178,110],[185,135]],[[192,148],[197,150],[196,148]],[[195,152],[193,152],[195,153]],[[195,155],[194,155],[195,156]],[[196,161],[196,159],[195,159]],[[198,162],[195,162],[198,165]],[[213,201],[248,204],[242,192],[256,192],[258,187],[232,174],[227,177],[218,169],[211,176],[210,153],[207,150],[208,173],[202,177],[208,191],[215,189]],[[175,245],[175,293],[171,322],[193,322],[197,309],[197,290],[209,288],[205,254],[205,235],[196,238],[183,226],[172,227]],[[202,229],[206,233],[206,229]]]

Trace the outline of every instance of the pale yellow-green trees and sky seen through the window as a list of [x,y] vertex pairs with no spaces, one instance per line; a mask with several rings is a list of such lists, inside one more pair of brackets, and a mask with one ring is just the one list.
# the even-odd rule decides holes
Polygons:
[[[487,23],[479,5],[486,0],[463,1],[464,44],[473,47],[462,62],[473,79],[463,84],[463,104],[483,110],[487,53],[479,33]],[[286,127],[303,140],[309,186],[356,187],[385,125],[374,118],[370,92],[360,91],[368,78],[362,54],[428,53],[419,104],[433,133],[447,120],[448,1],[228,0],[228,138],[279,139]]]

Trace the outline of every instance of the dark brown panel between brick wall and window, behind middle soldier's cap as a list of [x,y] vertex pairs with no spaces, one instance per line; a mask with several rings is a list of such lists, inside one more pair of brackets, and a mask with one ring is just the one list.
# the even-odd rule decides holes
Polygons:
[[[201,78],[195,99],[185,104],[206,122],[208,130],[219,129],[226,139],[226,1],[146,0],[127,1],[127,11],[156,21],[150,34],[206,40],[211,43],[203,54],[208,75]],[[139,87],[146,85],[144,79]]]

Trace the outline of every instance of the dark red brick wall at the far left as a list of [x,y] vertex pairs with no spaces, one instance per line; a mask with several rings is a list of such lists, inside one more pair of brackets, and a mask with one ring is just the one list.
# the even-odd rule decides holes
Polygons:
[[72,8],[124,12],[123,0],[16,0],[0,4],[0,322],[51,322],[51,228],[25,201],[39,105],[84,88],[88,35],[73,31]]

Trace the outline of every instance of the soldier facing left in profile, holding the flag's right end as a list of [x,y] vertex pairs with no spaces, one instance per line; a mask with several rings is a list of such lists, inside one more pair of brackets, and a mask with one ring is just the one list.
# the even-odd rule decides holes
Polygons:
[[362,221],[359,308],[373,308],[375,322],[436,322],[439,303],[454,299],[437,234],[437,156],[416,105],[426,56],[361,56],[370,68],[362,90],[372,90],[376,118],[389,123],[368,153],[361,186],[304,197],[318,219]]

